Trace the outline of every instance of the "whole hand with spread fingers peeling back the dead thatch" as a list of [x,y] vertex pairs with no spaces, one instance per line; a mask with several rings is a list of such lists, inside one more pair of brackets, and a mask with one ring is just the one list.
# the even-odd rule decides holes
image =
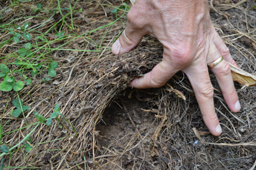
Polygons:
[[136,0],[127,20],[126,29],[112,46],[115,55],[135,48],[145,34],[156,37],[164,46],[163,61],[128,86],[161,87],[177,71],[183,71],[192,84],[205,124],[214,136],[219,136],[222,129],[214,109],[207,64],[221,55],[223,61],[211,70],[230,110],[238,112],[241,105],[227,64],[236,63],[211,23],[207,0]]

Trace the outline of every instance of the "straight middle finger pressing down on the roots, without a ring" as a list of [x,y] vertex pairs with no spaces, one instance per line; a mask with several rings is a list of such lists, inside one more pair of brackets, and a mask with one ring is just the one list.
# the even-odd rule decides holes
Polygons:
[[189,81],[191,81],[205,125],[207,125],[211,134],[219,136],[222,130],[214,109],[213,86],[211,85],[205,61],[202,59],[196,65],[185,70],[185,73],[188,75]]

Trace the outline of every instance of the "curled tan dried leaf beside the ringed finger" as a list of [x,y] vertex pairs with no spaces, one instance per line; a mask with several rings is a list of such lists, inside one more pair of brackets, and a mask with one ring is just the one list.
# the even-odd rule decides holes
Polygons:
[[230,66],[233,80],[238,81],[238,83],[241,83],[245,86],[256,86],[255,75],[249,74],[246,71],[243,71],[240,68],[235,67],[235,65],[232,65],[229,62],[227,63]]

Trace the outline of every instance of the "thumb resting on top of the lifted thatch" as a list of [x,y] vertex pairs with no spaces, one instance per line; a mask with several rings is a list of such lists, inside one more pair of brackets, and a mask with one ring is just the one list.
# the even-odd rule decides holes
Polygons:
[[135,48],[142,40],[142,37],[146,33],[141,29],[134,29],[127,24],[126,29],[123,31],[121,36],[115,41],[112,46],[112,52],[114,55],[118,53],[128,52],[131,49]]

